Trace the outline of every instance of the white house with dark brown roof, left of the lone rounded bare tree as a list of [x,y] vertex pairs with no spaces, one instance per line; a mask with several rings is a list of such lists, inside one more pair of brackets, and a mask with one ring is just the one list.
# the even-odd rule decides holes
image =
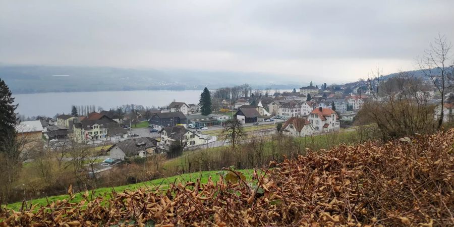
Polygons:
[[201,139],[199,135],[185,129],[182,126],[162,127],[159,134],[161,136],[159,144],[166,149],[168,149],[168,147],[175,141],[182,142],[185,147],[200,145],[205,142],[205,140]]

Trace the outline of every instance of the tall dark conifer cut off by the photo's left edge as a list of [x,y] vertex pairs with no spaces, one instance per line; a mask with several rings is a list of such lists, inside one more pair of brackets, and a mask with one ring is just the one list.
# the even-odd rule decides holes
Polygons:
[[16,135],[16,110],[18,104],[14,103],[10,88],[5,81],[0,79],[0,152],[3,152],[8,143],[8,138],[15,138]]

